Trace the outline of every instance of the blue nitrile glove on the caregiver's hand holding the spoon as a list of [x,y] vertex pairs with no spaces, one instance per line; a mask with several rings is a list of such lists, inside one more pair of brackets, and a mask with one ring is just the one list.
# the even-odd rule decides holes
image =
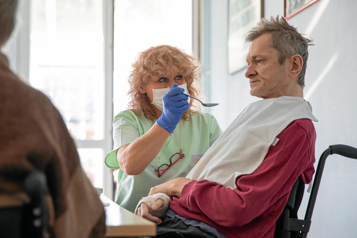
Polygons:
[[177,87],[177,85],[174,84],[174,86],[165,93],[164,97],[162,97],[164,109],[156,122],[170,133],[175,130],[177,123],[181,119],[182,113],[190,108],[188,97],[182,94],[184,91],[185,89]]

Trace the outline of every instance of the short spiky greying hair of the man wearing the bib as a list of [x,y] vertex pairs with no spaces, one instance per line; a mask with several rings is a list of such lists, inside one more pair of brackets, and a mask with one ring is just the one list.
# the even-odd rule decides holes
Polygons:
[[284,17],[279,18],[278,15],[276,17],[271,16],[270,20],[265,18],[260,19],[257,25],[248,31],[245,41],[252,42],[266,33],[272,35],[271,46],[278,50],[281,65],[288,57],[296,54],[301,55],[303,66],[298,75],[297,83],[300,86],[305,86],[306,64],[309,57],[307,47],[313,45],[310,44],[312,40],[304,37],[295,27],[289,25]]

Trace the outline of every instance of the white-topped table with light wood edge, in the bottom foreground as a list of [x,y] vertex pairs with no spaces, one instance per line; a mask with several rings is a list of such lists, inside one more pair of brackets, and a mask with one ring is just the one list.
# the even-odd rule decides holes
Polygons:
[[156,236],[156,223],[136,216],[104,194],[100,196],[100,200],[102,203],[109,203],[109,206],[105,207],[106,237]]

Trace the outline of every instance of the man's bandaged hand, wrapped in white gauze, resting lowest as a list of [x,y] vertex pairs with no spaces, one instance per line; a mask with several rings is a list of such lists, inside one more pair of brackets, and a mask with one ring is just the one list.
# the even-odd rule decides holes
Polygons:
[[135,214],[153,221],[161,223],[159,217],[165,215],[169,209],[170,197],[165,193],[155,193],[154,195],[143,197],[135,208]]

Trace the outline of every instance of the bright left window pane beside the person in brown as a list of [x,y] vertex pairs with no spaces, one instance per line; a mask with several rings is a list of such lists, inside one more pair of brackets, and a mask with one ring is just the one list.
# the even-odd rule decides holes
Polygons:
[[[103,0],[32,0],[29,46],[30,85],[58,108],[82,167],[92,184],[102,188],[104,154],[111,147],[105,87],[112,88],[104,72],[105,7]],[[107,121],[112,120],[111,111],[109,117]]]

